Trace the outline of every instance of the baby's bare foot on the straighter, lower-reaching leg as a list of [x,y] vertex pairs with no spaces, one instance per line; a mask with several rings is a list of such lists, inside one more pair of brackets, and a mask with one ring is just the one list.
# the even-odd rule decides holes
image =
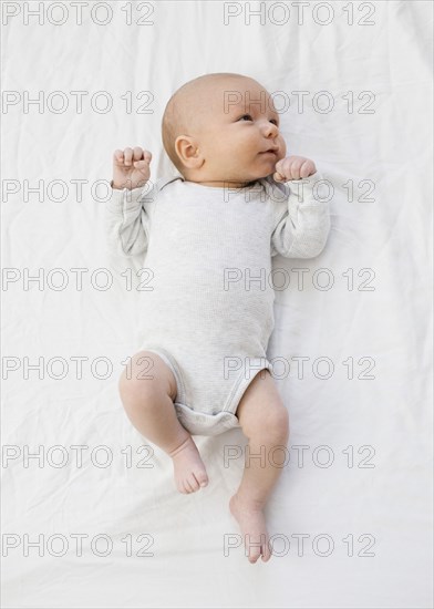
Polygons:
[[267,562],[271,553],[262,509],[255,503],[240,499],[237,494],[230,498],[229,509],[238,520],[249,562],[256,562],[261,555],[262,561]]

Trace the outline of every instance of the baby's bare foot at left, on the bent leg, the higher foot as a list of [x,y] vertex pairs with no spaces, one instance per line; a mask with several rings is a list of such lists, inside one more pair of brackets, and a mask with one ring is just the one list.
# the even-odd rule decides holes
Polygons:
[[174,475],[179,493],[194,493],[208,484],[208,476],[199,451],[189,435],[180,446],[170,453]]

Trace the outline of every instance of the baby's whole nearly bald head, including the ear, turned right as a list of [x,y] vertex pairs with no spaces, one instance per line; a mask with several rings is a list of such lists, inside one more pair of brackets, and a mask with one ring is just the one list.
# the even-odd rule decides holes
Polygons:
[[162,131],[184,178],[207,186],[245,186],[272,174],[286,154],[270,94],[241,74],[206,74],[184,84],[166,105]]

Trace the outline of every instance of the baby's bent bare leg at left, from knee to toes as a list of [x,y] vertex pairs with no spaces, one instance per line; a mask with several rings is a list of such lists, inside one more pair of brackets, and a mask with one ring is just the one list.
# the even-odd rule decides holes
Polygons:
[[138,351],[132,358],[128,373],[126,369],[122,373],[118,389],[133,425],[172,457],[180,493],[193,493],[206,486],[208,476],[204,462],[192,435],[176,416],[177,388],[172,370],[156,353]]

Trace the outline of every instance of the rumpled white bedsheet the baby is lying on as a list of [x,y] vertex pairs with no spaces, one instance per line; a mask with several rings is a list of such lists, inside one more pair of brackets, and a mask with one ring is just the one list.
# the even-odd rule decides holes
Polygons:
[[[433,606],[432,3],[309,2],[302,23],[293,4],[2,2],[4,607]],[[291,436],[267,508],[276,555],[256,565],[227,507],[241,432],[197,437],[210,484],[183,496],[123,412],[146,265],[108,255],[95,190],[117,147],[172,172],[165,103],[220,71],[276,93],[288,153],[334,190],[321,256],[273,259],[290,282],[268,354]]]

